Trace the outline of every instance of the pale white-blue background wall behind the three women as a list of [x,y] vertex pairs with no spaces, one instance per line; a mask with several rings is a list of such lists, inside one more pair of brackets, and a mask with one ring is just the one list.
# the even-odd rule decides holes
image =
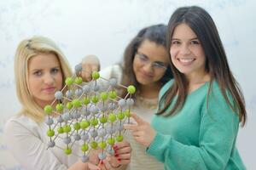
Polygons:
[[96,54],[104,68],[121,59],[125,45],[142,27],[167,24],[175,8],[193,4],[206,8],[215,20],[230,67],[245,94],[248,122],[240,130],[237,145],[247,169],[256,169],[255,1],[1,0],[0,170],[21,169],[3,143],[3,126],[20,109],[15,97],[13,60],[15,48],[23,38],[50,37],[73,66],[85,54]]

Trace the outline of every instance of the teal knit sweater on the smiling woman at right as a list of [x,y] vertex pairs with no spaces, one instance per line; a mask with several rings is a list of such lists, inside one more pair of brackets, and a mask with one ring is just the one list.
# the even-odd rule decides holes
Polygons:
[[[172,82],[161,89],[160,97]],[[174,116],[154,116],[152,126],[157,133],[147,152],[164,162],[166,170],[245,169],[236,150],[239,118],[217,82],[212,82],[207,108],[208,88],[209,82],[189,94]]]

